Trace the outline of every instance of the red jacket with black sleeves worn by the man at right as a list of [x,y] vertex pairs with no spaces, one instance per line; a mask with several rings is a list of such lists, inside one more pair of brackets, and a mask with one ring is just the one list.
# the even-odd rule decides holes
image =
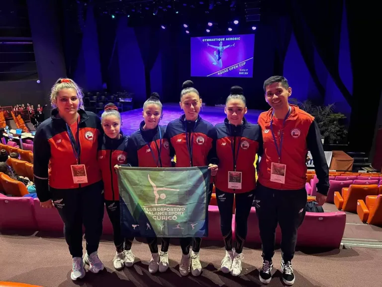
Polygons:
[[[326,163],[324,149],[321,143],[320,130],[314,117],[290,105],[291,111],[284,119],[273,119],[273,131],[280,148],[281,133],[283,136],[280,163],[286,164],[285,183],[271,181],[272,162],[279,162],[279,155],[270,129],[273,109],[260,114],[258,124],[262,129],[264,154],[259,166],[259,182],[269,188],[281,190],[297,190],[305,187],[306,155],[310,150],[316,175],[319,180],[317,191],[326,195],[329,189],[329,167]],[[279,135],[280,131],[280,135]]]

